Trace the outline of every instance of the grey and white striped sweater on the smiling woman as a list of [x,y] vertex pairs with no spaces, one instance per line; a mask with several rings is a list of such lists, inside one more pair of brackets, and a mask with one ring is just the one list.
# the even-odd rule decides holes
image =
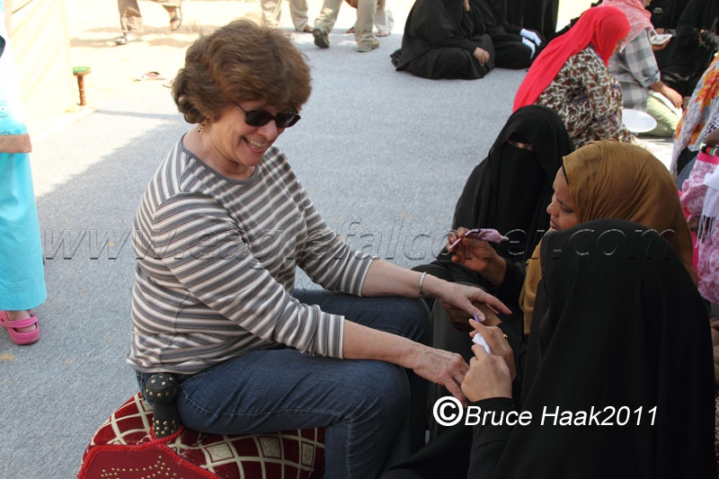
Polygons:
[[283,345],[342,358],[342,316],[292,297],[295,268],[359,295],[372,258],[324,224],[278,148],[236,181],[181,140],[147,185],[134,227],[132,368],[194,374]]

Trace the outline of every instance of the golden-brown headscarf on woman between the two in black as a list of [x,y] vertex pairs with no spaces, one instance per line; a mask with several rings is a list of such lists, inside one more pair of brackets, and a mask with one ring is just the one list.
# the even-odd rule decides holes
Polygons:
[[[691,235],[677,186],[669,170],[654,155],[630,143],[604,140],[564,156],[563,163],[579,223],[613,217],[656,230],[679,254],[697,283]],[[519,299],[525,333],[529,332],[537,284],[542,276],[539,247],[527,263],[527,277]]]

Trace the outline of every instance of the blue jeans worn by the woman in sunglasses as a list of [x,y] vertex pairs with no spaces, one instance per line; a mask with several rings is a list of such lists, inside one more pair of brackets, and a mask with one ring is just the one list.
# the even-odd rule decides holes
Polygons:
[[[429,328],[421,300],[315,289],[298,289],[294,296],[413,341],[422,342]],[[377,477],[409,456],[417,435],[423,440],[424,381],[383,361],[253,350],[181,381],[177,407],[182,423],[194,430],[251,434],[324,427],[325,476],[331,479]]]

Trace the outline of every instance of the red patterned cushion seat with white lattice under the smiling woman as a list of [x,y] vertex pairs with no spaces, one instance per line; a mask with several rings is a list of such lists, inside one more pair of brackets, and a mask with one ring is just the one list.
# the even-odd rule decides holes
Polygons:
[[[184,477],[322,477],[324,430],[222,436],[182,428],[155,439],[152,410],[140,394],[100,427],[84,451],[78,479]],[[158,475],[159,476],[159,475]]]

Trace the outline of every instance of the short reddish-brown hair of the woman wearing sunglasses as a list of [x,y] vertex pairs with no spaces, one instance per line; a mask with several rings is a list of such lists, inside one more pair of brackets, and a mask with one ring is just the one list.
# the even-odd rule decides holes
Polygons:
[[237,20],[191,45],[173,99],[189,123],[217,120],[231,102],[264,100],[280,111],[299,111],[310,81],[305,56],[286,33]]

